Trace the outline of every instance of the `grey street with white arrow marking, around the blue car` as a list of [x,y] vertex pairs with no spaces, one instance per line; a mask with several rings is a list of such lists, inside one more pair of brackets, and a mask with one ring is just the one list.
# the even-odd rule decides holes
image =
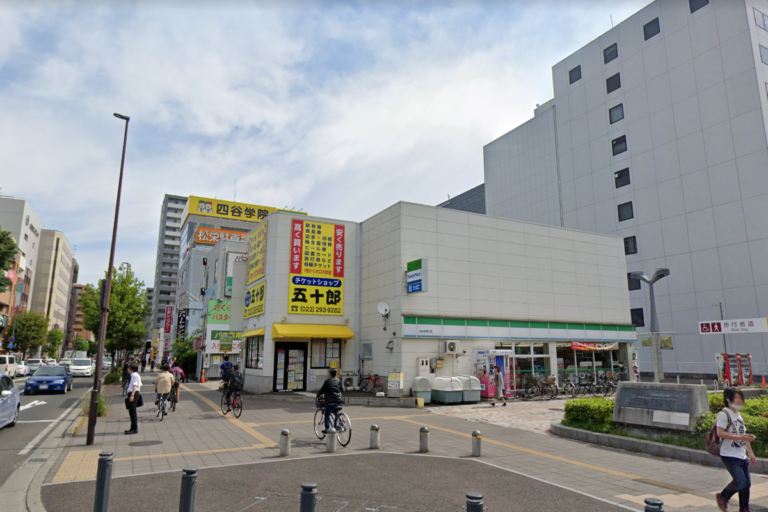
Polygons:
[[46,393],[24,396],[26,380],[27,377],[18,377],[14,381],[22,392],[19,422],[13,428],[0,429],[0,485],[3,485],[29,457],[29,453],[19,455],[19,452],[69,409],[93,384],[92,378],[76,377],[72,391],[66,395]]

